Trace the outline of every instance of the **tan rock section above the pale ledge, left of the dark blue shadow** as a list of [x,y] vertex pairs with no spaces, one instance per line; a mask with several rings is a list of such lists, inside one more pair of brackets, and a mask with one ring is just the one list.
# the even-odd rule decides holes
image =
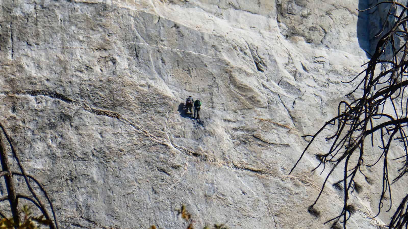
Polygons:
[[[361,7],[361,2],[366,1],[361,0],[358,4],[355,1],[336,4],[330,1],[277,1],[279,31],[286,38],[299,36],[306,43],[320,48],[333,48],[361,55],[362,49],[356,42],[359,39],[358,28],[356,29],[359,12],[356,8]],[[367,23],[367,20],[363,21]],[[366,29],[366,26],[363,27]]]

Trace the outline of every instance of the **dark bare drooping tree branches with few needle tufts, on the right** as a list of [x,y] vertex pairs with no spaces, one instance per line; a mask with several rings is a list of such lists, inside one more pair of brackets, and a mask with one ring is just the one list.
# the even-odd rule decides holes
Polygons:
[[[366,66],[364,71],[352,80],[343,82],[358,83],[354,90],[346,95],[353,94],[354,97],[350,97],[357,99],[350,103],[341,101],[338,105],[337,116],[324,123],[314,135],[303,136],[312,138],[289,172],[289,174],[293,172],[311,144],[317,138],[323,137],[322,131],[331,133],[330,136],[325,137],[325,140],[331,144],[330,149],[324,154],[316,154],[320,163],[313,170],[322,166],[322,172],[328,170],[328,174],[320,193],[309,209],[315,209],[315,205],[333,172],[341,171],[343,173],[342,179],[335,182],[333,186],[343,192],[344,203],[340,214],[325,222],[326,224],[333,221],[332,228],[340,227],[339,222],[346,228],[348,219],[356,212],[355,206],[348,203],[349,196],[354,191],[361,192],[362,189],[362,186],[356,182],[356,178],[362,176],[368,183],[373,183],[373,179],[364,174],[364,168],[379,164],[382,166],[382,174],[377,177],[382,183],[377,206],[378,212],[372,218],[380,214],[385,201],[388,201],[390,206],[386,211],[391,210],[391,185],[408,172],[408,92],[406,92],[408,86],[406,79],[408,76],[408,5],[395,1],[382,1],[368,9],[375,8],[380,4],[390,4],[390,9],[381,31],[376,37],[384,34],[388,17],[394,18],[395,22],[390,30],[379,39],[370,61],[362,65]],[[392,8],[400,9],[399,13],[392,15]],[[392,151],[398,155],[394,159],[389,158],[392,145],[399,145],[403,148],[403,150]],[[373,164],[364,162],[364,157],[371,155],[368,154],[368,150],[370,153],[374,152],[376,157]],[[397,175],[392,177],[389,174],[389,165],[395,160],[401,161],[403,165],[397,169]],[[341,166],[339,166],[340,164]],[[408,227],[408,193],[397,207],[388,227]]]

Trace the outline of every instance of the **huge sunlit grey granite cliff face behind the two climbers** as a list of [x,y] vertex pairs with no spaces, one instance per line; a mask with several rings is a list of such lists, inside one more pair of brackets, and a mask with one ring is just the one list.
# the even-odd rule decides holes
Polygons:
[[[197,228],[328,228],[337,180],[306,211],[328,145],[288,172],[356,86],[375,33],[360,2],[2,0],[0,122],[62,228],[180,228],[180,203]],[[390,213],[368,219],[381,190],[361,185],[350,227],[377,228]]]

